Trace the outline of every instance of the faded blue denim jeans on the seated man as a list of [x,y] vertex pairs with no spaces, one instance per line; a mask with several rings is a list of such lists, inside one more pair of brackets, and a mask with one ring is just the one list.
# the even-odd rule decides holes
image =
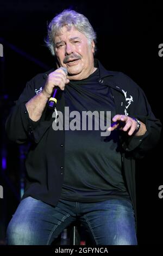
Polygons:
[[76,219],[91,245],[137,245],[133,206],[128,200],[97,203],[59,200],[51,206],[32,197],[21,201],[7,229],[8,245],[51,245]]

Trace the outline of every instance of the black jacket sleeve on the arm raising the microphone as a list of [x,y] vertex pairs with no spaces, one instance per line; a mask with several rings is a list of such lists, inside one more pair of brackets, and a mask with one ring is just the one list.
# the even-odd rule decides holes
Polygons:
[[[27,141],[39,142],[49,126],[49,121],[45,120],[45,111],[40,120],[33,121],[29,118],[26,102],[35,96],[34,80],[27,82],[19,99],[12,107],[9,117],[5,123],[8,138],[16,143]],[[46,109],[46,108],[45,108]]]

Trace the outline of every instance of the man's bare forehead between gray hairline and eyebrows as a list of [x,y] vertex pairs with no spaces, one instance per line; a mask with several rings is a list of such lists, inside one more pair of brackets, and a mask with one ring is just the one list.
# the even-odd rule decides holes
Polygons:
[[86,39],[86,36],[83,33],[79,32],[75,27],[71,27],[71,29],[69,30],[67,26],[64,26],[57,32],[54,41],[56,42],[58,40],[71,39],[73,37]]

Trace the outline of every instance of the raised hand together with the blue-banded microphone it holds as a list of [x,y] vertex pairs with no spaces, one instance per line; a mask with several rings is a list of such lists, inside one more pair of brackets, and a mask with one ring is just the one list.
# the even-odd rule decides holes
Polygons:
[[48,75],[45,87],[43,88],[43,94],[49,98],[48,106],[50,108],[53,108],[57,103],[57,88],[55,87],[64,90],[65,84],[70,82],[66,76],[67,69],[64,67],[61,67]]

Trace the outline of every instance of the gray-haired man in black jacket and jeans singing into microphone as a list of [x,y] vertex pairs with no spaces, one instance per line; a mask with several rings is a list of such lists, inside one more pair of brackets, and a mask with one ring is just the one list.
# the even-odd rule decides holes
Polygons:
[[[9,245],[49,245],[77,219],[92,245],[137,244],[135,159],[159,141],[161,124],[137,84],[94,59],[95,42],[84,15],[64,10],[54,17],[47,45],[57,69],[27,83],[7,120],[12,141],[30,141],[26,191],[8,226]],[[70,113],[110,111],[108,135],[87,125],[65,129],[67,117],[60,121],[59,113],[66,107]]]

